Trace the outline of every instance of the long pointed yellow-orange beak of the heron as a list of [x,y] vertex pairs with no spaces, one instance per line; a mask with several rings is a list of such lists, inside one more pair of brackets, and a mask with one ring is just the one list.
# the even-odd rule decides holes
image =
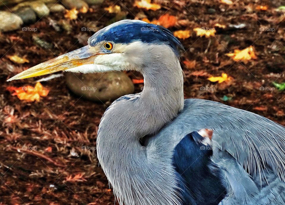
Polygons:
[[87,45],[24,70],[7,81],[31,78],[67,70],[80,65],[93,64],[95,56],[100,54],[102,53],[99,53],[99,50],[96,51],[96,48]]

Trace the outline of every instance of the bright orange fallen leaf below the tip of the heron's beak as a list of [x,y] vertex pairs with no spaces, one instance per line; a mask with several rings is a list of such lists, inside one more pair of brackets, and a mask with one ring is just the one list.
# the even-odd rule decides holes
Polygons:
[[41,96],[47,96],[49,90],[42,86],[41,83],[37,82],[35,87],[33,86],[23,86],[14,87],[8,86],[6,88],[10,92],[14,92],[12,95],[17,95],[20,100],[27,100],[29,102],[39,101]]

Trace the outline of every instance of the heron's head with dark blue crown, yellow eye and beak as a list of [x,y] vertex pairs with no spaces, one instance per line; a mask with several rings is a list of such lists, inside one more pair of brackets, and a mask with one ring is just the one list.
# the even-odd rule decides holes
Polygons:
[[121,20],[88,39],[88,45],[31,67],[8,81],[36,77],[58,71],[95,73],[137,70],[149,62],[148,56],[171,50],[178,57],[183,46],[162,26],[140,20]]

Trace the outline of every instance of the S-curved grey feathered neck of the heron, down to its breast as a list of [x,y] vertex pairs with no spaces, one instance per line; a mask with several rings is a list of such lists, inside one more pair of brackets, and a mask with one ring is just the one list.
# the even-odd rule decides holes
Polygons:
[[148,149],[139,140],[158,132],[183,109],[182,70],[171,49],[163,56],[148,55],[147,66],[140,70],[143,92],[118,99],[102,117],[98,159],[120,204],[179,205],[172,150]]

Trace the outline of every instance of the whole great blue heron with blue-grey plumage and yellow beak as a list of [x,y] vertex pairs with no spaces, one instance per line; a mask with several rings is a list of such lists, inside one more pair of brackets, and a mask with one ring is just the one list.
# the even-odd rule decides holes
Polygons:
[[9,81],[61,70],[143,74],[143,91],[115,100],[98,130],[98,159],[119,204],[285,204],[285,128],[218,102],[184,100],[178,47],[162,26],[122,20]]

